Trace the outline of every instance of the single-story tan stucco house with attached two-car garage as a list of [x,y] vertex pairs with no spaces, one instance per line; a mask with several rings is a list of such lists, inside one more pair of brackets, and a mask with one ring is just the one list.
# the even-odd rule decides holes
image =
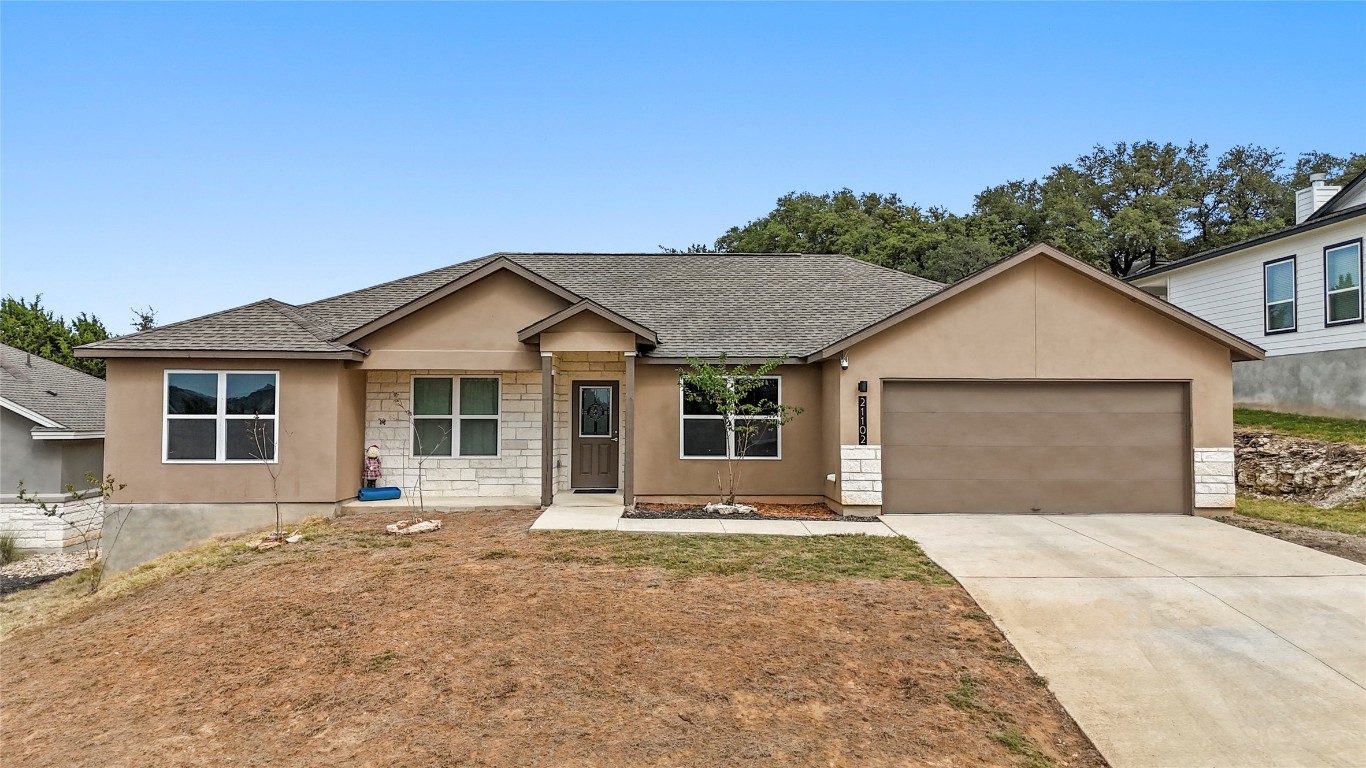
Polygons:
[[143,547],[270,521],[262,430],[291,517],[352,497],[370,444],[406,489],[418,445],[437,454],[429,502],[714,497],[732,447],[679,369],[721,354],[783,358],[769,396],[805,409],[751,454],[747,499],[1224,508],[1231,361],[1262,355],[1048,246],[951,287],[843,256],[505,253],[78,354],[108,361],[109,471]]

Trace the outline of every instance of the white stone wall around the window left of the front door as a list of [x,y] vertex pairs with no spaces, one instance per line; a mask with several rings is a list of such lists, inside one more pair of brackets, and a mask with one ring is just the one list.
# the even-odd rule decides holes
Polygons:
[[[540,370],[372,370],[365,380],[365,447],[378,445],[384,463],[380,485],[417,489],[418,465],[411,455],[414,374],[497,376],[501,379],[500,455],[490,458],[432,456],[423,465],[423,493],[440,496],[541,496],[541,372]],[[400,403],[393,400],[399,396]],[[363,452],[357,454],[361,465]]]

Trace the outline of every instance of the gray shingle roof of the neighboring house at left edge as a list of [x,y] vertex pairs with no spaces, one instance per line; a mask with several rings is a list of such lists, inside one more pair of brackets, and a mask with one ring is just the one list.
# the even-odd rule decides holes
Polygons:
[[0,353],[0,396],[67,430],[104,430],[102,379],[7,344]]

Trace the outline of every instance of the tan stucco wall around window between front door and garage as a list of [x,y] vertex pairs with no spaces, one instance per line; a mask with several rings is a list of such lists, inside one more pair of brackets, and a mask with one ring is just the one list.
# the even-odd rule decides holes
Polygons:
[[[831,447],[824,441],[822,370],[817,365],[784,365],[783,402],[805,413],[783,428],[783,458],[743,463],[742,497],[781,496],[817,500],[826,492]],[[642,364],[635,374],[635,493],[647,496],[706,496],[717,492],[717,459],[680,458],[679,366]],[[837,448],[836,448],[837,451]]]

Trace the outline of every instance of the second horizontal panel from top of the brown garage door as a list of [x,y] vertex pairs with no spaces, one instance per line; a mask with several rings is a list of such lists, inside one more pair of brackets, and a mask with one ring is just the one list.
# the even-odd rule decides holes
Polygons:
[[892,413],[884,445],[1171,445],[1179,413]]

